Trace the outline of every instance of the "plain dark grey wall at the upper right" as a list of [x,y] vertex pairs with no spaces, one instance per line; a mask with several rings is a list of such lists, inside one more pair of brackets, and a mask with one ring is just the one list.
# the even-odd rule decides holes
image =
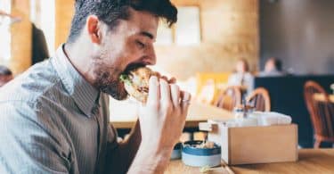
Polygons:
[[260,1],[261,65],[277,56],[298,74],[334,73],[334,1]]

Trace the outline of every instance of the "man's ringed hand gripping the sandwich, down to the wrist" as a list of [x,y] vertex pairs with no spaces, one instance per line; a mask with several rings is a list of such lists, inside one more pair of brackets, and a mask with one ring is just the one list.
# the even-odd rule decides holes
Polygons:
[[190,95],[166,79],[151,77],[147,104],[139,110],[142,145],[172,150],[182,134]]

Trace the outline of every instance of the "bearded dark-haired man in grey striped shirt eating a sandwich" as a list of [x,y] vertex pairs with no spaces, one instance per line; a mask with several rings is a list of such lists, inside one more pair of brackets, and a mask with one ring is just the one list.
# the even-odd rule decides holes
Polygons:
[[169,0],[75,6],[67,43],[1,91],[0,173],[162,173],[191,96],[151,77],[132,135],[118,144],[103,93],[125,99],[120,74],[155,64],[159,18],[173,24],[175,6]]

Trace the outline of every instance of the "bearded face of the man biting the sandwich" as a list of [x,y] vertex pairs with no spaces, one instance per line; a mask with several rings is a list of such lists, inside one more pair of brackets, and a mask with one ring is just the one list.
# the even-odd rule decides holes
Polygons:
[[101,50],[94,56],[94,86],[115,99],[126,99],[119,76],[129,67],[153,65],[153,48],[159,19],[149,12],[130,9],[130,19],[102,35]]

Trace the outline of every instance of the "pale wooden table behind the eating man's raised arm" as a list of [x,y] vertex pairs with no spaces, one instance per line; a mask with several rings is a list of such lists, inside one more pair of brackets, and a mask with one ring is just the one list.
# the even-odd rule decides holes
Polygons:
[[[132,128],[136,117],[136,104],[110,102],[110,123],[115,128]],[[199,122],[210,120],[232,119],[232,112],[225,111],[215,106],[192,102],[189,106],[185,128],[197,128]]]

